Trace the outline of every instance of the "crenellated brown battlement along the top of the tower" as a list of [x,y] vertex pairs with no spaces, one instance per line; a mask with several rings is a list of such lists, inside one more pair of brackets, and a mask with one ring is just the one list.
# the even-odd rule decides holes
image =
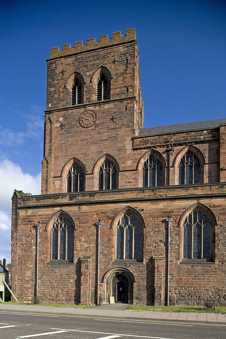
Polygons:
[[111,46],[128,41],[136,40],[136,28],[129,28],[126,30],[125,35],[121,35],[121,32],[112,33],[112,38],[108,39],[107,35],[101,35],[99,41],[95,41],[95,38],[87,39],[87,44],[83,45],[82,41],[75,42],[75,47],[71,47],[71,44],[63,45],[63,49],[58,47],[50,48],[50,59],[63,57],[70,54],[81,53],[89,51],[90,49]]

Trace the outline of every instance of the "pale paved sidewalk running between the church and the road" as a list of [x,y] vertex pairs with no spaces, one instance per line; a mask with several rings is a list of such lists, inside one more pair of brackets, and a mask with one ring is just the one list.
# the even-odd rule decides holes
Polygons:
[[130,311],[130,310],[106,310],[101,306],[91,308],[77,307],[54,307],[54,306],[32,306],[0,304],[1,312],[34,313],[48,315],[83,316],[92,318],[123,319],[136,321],[169,321],[169,322],[197,322],[206,324],[226,325],[225,314],[215,313],[185,313],[185,312],[160,312],[160,311]]

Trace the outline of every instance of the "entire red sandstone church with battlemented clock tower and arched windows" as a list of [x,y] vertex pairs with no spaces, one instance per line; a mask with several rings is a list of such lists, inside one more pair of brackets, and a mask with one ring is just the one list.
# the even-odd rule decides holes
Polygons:
[[12,198],[17,299],[226,306],[226,119],[144,128],[134,28],[46,61],[41,195]]

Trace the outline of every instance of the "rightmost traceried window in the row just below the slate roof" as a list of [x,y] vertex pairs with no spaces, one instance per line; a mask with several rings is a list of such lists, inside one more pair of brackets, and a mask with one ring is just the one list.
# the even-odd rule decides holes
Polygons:
[[192,185],[200,182],[200,162],[193,152],[186,152],[178,167],[178,184]]

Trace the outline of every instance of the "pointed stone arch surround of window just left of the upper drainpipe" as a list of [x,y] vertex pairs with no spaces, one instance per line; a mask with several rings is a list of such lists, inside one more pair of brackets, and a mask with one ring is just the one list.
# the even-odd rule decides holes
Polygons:
[[149,151],[145,152],[138,160],[136,168],[138,169],[138,187],[143,187],[143,166],[145,161],[148,159],[149,156],[155,156],[162,164],[162,185],[165,186],[166,184],[166,159],[157,151],[157,149],[150,149]]

